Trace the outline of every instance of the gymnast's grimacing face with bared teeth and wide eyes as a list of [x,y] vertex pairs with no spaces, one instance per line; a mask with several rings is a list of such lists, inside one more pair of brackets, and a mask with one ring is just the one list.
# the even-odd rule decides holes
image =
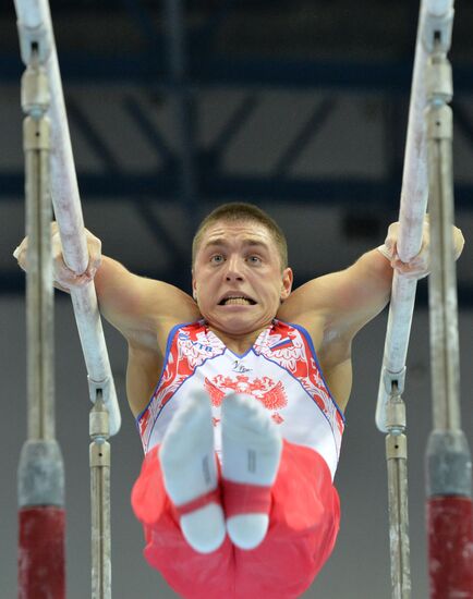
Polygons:
[[197,249],[193,292],[202,316],[227,334],[247,334],[269,325],[292,285],[281,270],[271,233],[252,221],[209,225]]

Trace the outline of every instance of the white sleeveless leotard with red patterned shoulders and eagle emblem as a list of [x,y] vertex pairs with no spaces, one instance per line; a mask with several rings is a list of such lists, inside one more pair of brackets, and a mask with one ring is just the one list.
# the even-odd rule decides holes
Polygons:
[[204,320],[174,327],[161,377],[136,419],[145,453],[162,441],[181,403],[202,389],[213,404],[217,455],[221,452],[222,399],[229,393],[244,393],[270,411],[283,439],[317,451],[333,478],[344,418],[325,383],[305,329],[274,320],[240,356]]

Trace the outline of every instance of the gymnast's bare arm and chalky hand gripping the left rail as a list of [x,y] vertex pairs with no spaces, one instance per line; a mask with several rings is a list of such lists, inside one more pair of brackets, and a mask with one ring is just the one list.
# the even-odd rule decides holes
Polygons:
[[[157,350],[158,340],[166,340],[170,328],[198,318],[190,295],[161,281],[133,274],[120,262],[101,256],[101,242],[85,230],[89,262],[83,273],[69,269],[62,258],[62,246],[56,223],[51,224],[54,285],[68,292],[93,279],[100,311],[135,347]],[[19,265],[26,270],[27,237],[15,249]]]

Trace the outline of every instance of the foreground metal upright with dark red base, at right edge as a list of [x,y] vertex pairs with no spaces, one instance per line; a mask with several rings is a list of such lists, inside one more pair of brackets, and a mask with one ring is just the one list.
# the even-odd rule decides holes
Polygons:
[[[447,59],[453,2],[430,2],[424,44],[430,195],[430,365],[434,429],[426,451],[432,599],[473,599],[472,464],[461,430],[457,276],[453,256],[452,97]],[[439,5],[440,4],[440,5]],[[444,4],[444,5],[441,5]]]

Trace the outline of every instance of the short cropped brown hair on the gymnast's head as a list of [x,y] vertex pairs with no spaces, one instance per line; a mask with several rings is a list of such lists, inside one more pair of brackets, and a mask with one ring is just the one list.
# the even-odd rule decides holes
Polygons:
[[192,266],[194,266],[195,257],[201,247],[202,240],[208,228],[219,221],[230,222],[257,222],[267,229],[272,236],[278,248],[279,258],[281,261],[281,270],[288,266],[288,242],[279,224],[264,210],[254,204],[244,201],[230,201],[215,208],[198,225],[198,229],[192,241]]

